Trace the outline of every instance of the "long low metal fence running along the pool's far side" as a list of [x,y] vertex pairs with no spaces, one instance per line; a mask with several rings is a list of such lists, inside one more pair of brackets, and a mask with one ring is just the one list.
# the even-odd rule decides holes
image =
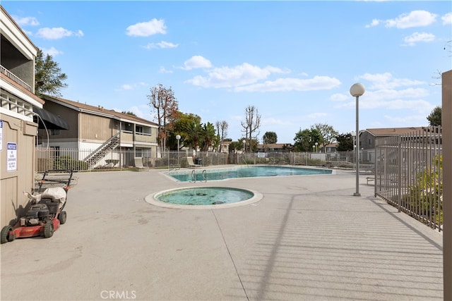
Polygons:
[[[180,168],[189,167],[187,157],[192,156],[188,150],[166,151],[161,154],[151,154],[136,149],[113,149],[105,154],[95,164],[90,164],[90,154],[94,149],[36,149],[36,171],[44,172],[50,169],[72,169],[74,171],[121,170],[132,168]],[[374,150],[362,151],[360,155],[362,170],[374,170]],[[140,166],[137,165],[137,161]],[[196,164],[201,166],[216,166],[226,164],[290,164],[302,166],[317,166],[327,168],[355,168],[354,152],[268,152],[268,153],[222,153],[196,152]]]

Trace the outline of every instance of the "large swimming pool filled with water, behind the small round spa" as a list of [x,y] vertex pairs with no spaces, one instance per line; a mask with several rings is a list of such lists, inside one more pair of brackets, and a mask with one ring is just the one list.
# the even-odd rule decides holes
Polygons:
[[194,171],[170,171],[168,176],[181,182],[200,180],[225,180],[228,178],[251,178],[270,176],[300,176],[331,174],[331,169],[301,168],[289,166],[237,166],[220,169],[195,169]]

